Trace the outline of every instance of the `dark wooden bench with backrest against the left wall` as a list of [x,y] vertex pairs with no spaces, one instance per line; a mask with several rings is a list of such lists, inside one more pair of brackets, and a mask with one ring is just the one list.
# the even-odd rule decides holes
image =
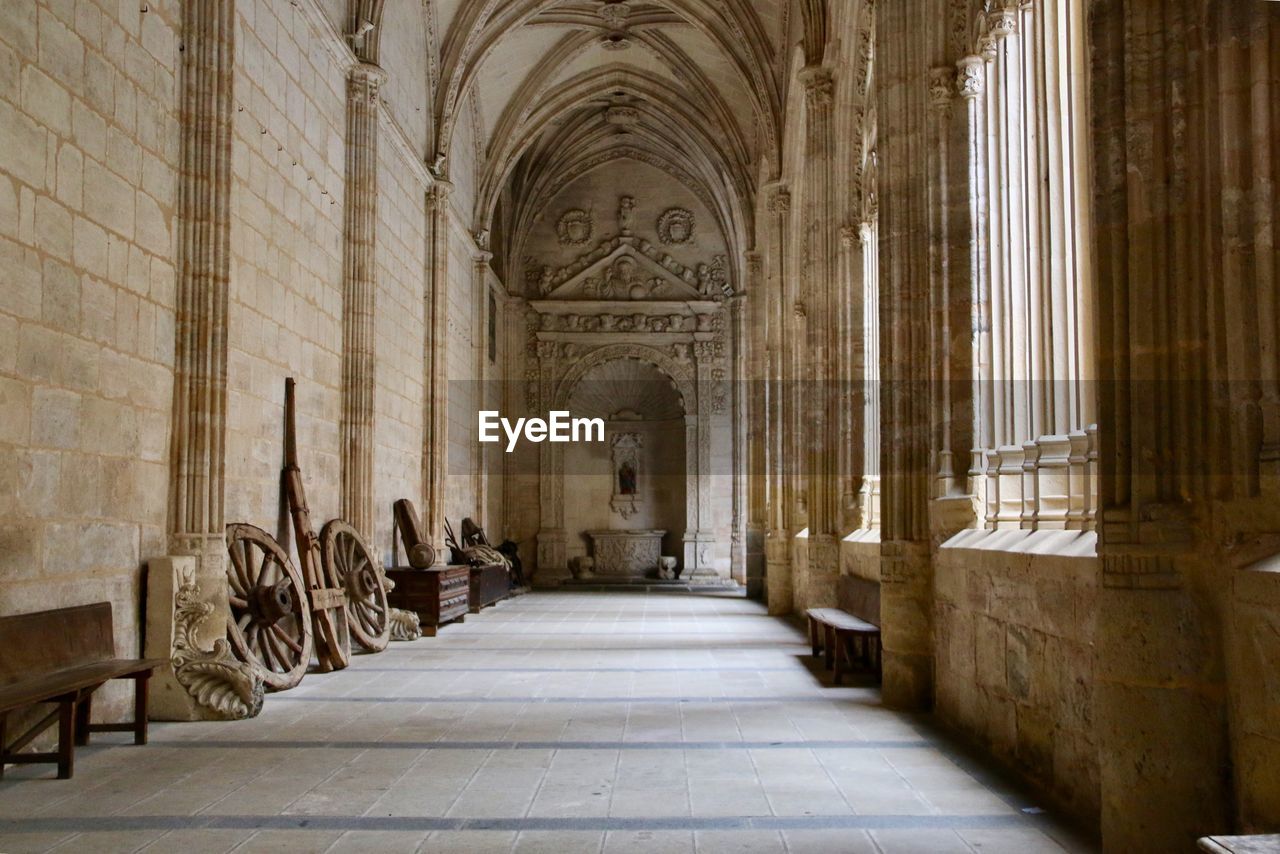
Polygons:
[[[88,744],[91,732],[133,732],[134,744],[146,744],[147,680],[168,663],[115,657],[109,602],[0,617],[0,777],[5,764],[47,762],[65,780],[74,769],[76,745]],[[93,691],[113,679],[133,680],[133,721],[91,723]],[[58,708],[6,744],[10,713],[42,703]],[[19,753],[55,721],[56,753]]]

